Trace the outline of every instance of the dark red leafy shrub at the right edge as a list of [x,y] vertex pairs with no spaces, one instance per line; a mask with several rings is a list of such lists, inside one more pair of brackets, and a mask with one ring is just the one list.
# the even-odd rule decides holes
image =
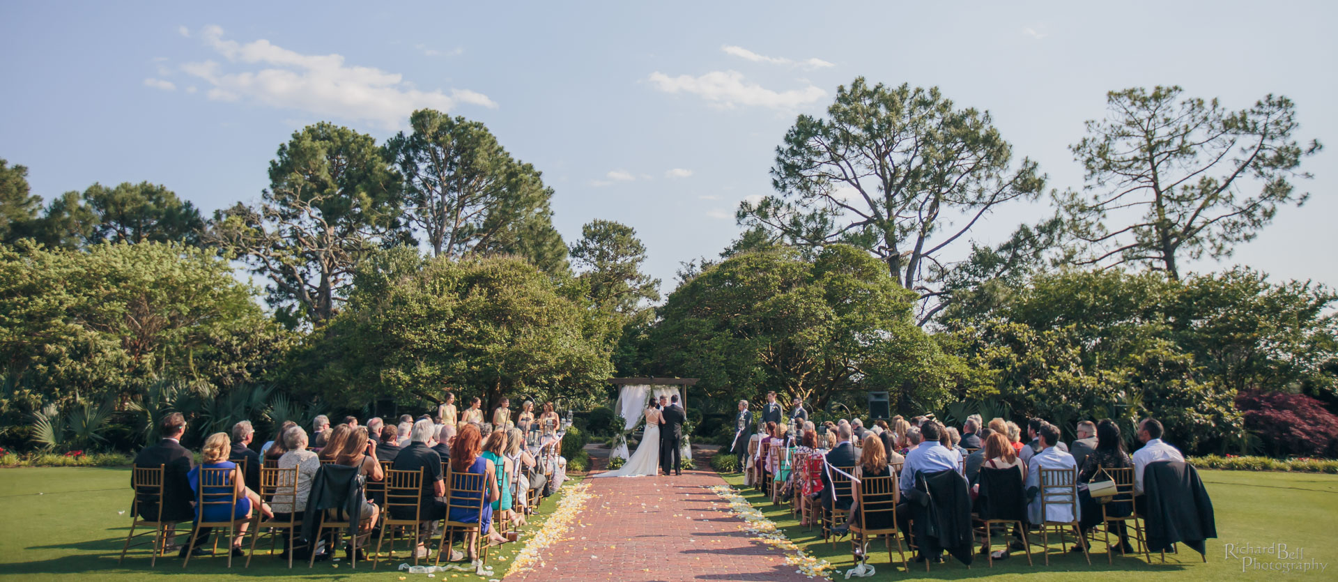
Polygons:
[[1275,456],[1309,456],[1333,452],[1338,416],[1306,395],[1248,391],[1236,395],[1236,408],[1246,428],[1263,440]]

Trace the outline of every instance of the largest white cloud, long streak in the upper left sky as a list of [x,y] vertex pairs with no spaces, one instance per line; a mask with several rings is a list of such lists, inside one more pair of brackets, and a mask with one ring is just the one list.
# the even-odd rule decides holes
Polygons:
[[206,95],[214,100],[246,100],[314,116],[371,120],[387,128],[401,127],[417,108],[498,106],[487,95],[470,90],[421,91],[400,74],[349,66],[340,55],[302,55],[264,39],[245,44],[226,40],[217,25],[205,27],[199,37],[226,59],[229,68],[238,68],[225,70],[213,60],[181,67],[209,83]]

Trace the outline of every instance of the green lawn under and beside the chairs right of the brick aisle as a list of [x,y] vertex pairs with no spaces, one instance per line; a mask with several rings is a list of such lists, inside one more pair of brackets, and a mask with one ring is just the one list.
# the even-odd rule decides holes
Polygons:
[[[1193,578],[1193,579],[1266,579],[1266,578],[1299,578],[1299,579],[1338,579],[1338,549],[1333,543],[1333,527],[1338,523],[1338,475],[1321,474],[1288,474],[1288,472],[1244,472],[1244,471],[1202,471],[1200,476],[1207,484],[1208,494],[1218,520],[1218,539],[1208,542],[1208,562],[1203,563],[1199,554],[1180,546],[1180,555],[1167,555],[1167,563],[1161,565],[1160,558],[1153,554],[1152,565],[1148,565],[1143,555],[1137,558],[1115,557],[1115,565],[1107,565],[1105,545],[1093,545],[1092,566],[1082,559],[1082,554],[1061,555],[1060,545],[1054,535],[1050,537],[1052,554],[1050,566],[1045,566],[1040,551],[1040,543],[1032,549],[1036,566],[1026,565],[1022,553],[1014,553],[1004,562],[995,562],[991,570],[985,559],[977,561],[970,570],[955,561],[946,565],[933,566],[930,574],[925,574],[925,565],[911,562],[910,577],[902,569],[900,557],[890,565],[887,553],[883,551],[882,541],[875,545],[871,563],[878,569],[874,579],[909,579],[909,578],[979,578],[994,575],[998,579],[1020,579],[1026,575],[1029,579],[1074,579],[1081,575],[1084,581],[1097,579],[1128,579],[1131,575],[1139,579],[1148,578]],[[725,478],[729,484],[743,487],[743,478],[729,475]],[[832,549],[830,542],[823,542],[818,530],[799,524],[791,518],[788,506],[772,506],[765,495],[756,491],[744,491],[744,496],[767,516],[780,526],[789,539],[795,541],[805,551],[827,559],[836,565],[839,570],[834,573],[834,579],[844,579],[847,569],[854,567],[850,555],[850,542],[843,539]],[[994,547],[998,549],[1004,537],[997,537]],[[1072,539],[1072,537],[1070,537]],[[1113,539],[1113,537],[1112,537]],[[1038,542],[1038,541],[1036,541]],[[1224,545],[1235,543],[1238,547],[1246,543],[1252,546],[1267,546],[1272,543],[1286,545],[1288,553],[1305,549],[1299,559],[1278,561],[1272,557],[1256,557],[1259,562],[1319,562],[1327,563],[1329,569],[1322,571],[1282,573],[1270,570],[1242,571],[1242,559],[1227,559]],[[1240,557],[1242,554],[1238,554]],[[907,553],[910,558],[910,554]],[[983,557],[982,557],[983,558]],[[1293,566],[1295,567],[1295,566]],[[864,579],[864,578],[852,578]]]

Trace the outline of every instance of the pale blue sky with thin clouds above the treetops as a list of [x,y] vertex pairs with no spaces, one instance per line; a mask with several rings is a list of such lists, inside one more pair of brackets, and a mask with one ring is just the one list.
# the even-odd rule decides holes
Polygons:
[[[795,115],[839,84],[939,86],[989,110],[1053,187],[1109,90],[1180,84],[1242,108],[1298,104],[1299,138],[1338,140],[1333,3],[7,3],[0,158],[51,198],[163,183],[203,210],[254,201],[280,143],[330,120],[384,139],[419,107],[484,122],[557,190],[571,242],[625,222],[648,270],[714,257],[733,210],[769,193]],[[213,63],[213,64],[210,64]],[[325,87],[337,86],[330,91]],[[1228,264],[1338,285],[1333,149]],[[1048,210],[1004,209],[998,241]],[[1195,270],[1219,269],[1215,262]]]

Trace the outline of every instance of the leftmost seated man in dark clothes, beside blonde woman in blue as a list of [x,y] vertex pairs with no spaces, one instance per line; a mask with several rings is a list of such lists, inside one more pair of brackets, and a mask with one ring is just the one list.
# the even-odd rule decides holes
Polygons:
[[[194,456],[186,447],[181,446],[181,438],[186,433],[186,417],[181,412],[171,412],[158,423],[159,433],[163,435],[158,443],[150,444],[135,455],[136,468],[163,470],[163,498],[158,503],[139,503],[139,519],[162,519],[163,522],[186,522],[195,519],[195,494],[191,491],[190,472]],[[162,512],[159,515],[159,506]],[[175,528],[167,531],[167,545],[173,545]],[[195,539],[195,549],[191,555],[206,555],[201,545],[209,539],[209,530],[199,530]],[[179,555],[186,557],[186,546],[182,546]]]

